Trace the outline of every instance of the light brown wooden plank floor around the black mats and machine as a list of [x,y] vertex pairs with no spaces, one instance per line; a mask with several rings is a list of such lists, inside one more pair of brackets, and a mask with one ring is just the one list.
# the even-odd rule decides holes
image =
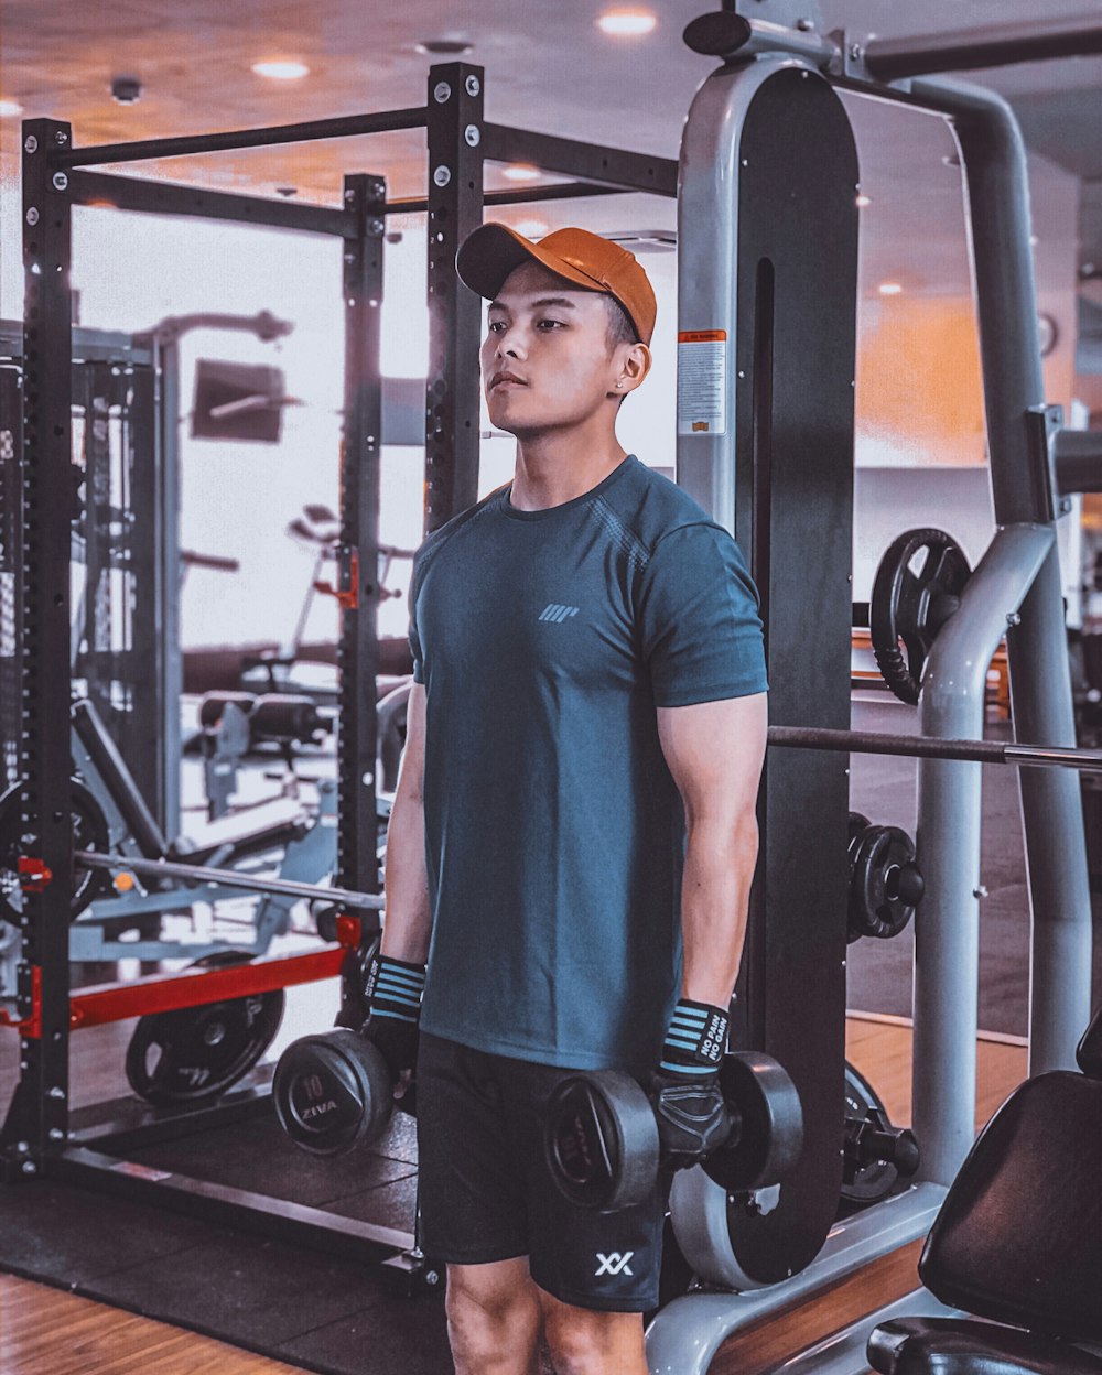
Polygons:
[[[892,1118],[909,1121],[911,1028],[900,1019],[850,1018],[847,1053]],[[984,1038],[977,1125],[1025,1078],[1025,1048]],[[764,1375],[916,1284],[920,1243],[728,1341],[711,1375]],[[0,1275],[0,1375],[294,1375],[296,1368],[44,1284]],[[380,1372],[384,1375],[384,1372]],[[385,1372],[389,1375],[389,1372]],[[399,1372],[393,1372],[399,1375]]]

